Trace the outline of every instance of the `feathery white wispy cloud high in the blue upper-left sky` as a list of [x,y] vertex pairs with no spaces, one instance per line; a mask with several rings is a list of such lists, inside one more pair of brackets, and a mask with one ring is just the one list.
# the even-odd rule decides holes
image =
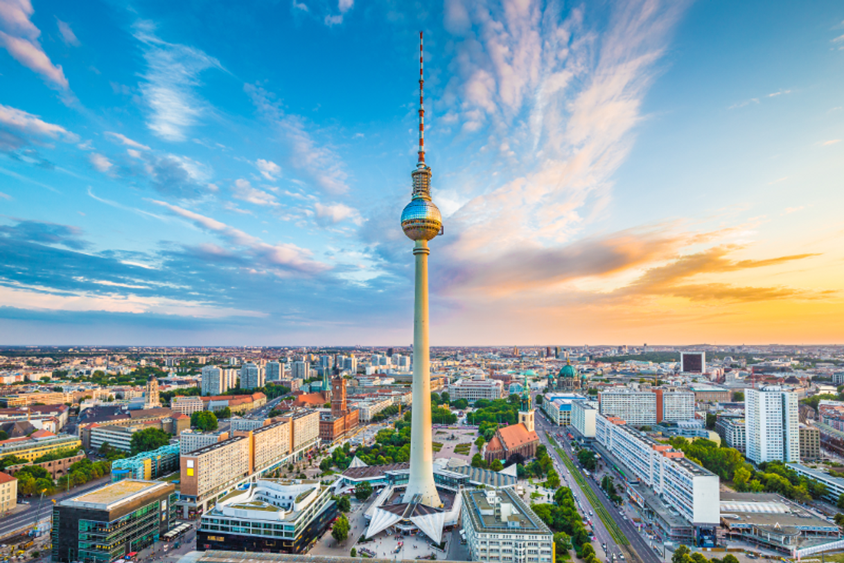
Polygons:
[[208,68],[222,70],[222,66],[199,49],[160,40],[152,22],[135,24],[134,35],[143,44],[147,62],[144,82],[140,84],[151,111],[147,126],[167,141],[183,141],[187,129],[208,110],[208,103],[195,91],[202,84],[199,75]]

